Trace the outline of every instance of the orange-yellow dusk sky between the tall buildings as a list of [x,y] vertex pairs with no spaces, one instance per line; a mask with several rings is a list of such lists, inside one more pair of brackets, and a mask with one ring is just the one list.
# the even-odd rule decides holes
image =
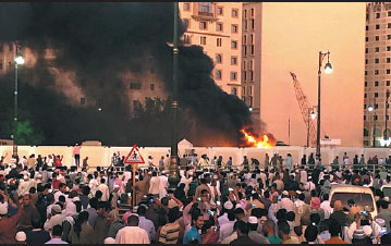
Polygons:
[[279,140],[289,142],[290,118],[290,144],[306,145],[306,126],[289,72],[296,74],[308,106],[316,106],[319,51],[330,50],[333,73],[322,69],[321,76],[321,137],[341,139],[342,146],[363,145],[365,7],[264,3],[261,119]]

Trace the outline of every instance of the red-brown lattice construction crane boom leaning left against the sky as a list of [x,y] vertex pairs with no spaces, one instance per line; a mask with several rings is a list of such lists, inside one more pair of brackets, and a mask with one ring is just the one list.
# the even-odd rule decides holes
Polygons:
[[316,130],[313,121],[310,120],[310,112],[309,112],[310,108],[308,107],[307,97],[304,95],[303,89],[296,78],[296,75],[292,72],[290,72],[290,74],[292,76],[298,107],[302,111],[302,116],[306,125],[306,128],[308,131],[308,138],[310,140],[310,145],[316,146]]

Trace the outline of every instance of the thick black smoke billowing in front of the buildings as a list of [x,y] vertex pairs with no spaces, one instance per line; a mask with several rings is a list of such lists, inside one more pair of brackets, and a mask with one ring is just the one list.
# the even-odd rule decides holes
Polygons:
[[[66,83],[72,95],[94,98],[103,108],[100,114],[78,112],[78,122],[73,124],[78,127],[75,132],[87,128],[85,139],[103,138],[103,143],[112,145],[133,144],[126,139],[127,124],[134,115],[129,113],[132,99],[127,97],[124,73],[143,74],[154,69],[167,91],[172,91],[172,48],[167,45],[172,42],[172,23],[173,3],[169,2],[0,3],[0,41],[19,40],[37,54],[36,65],[25,72],[28,83],[42,91],[56,91],[58,71],[71,74],[68,77],[72,79]],[[180,35],[183,33],[181,25]],[[56,53],[50,63],[44,59],[47,49]],[[182,128],[180,137],[213,145],[215,135],[216,143],[219,138],[223,145],[237,145],[240,130],[252,124],[248,108],[215,84],[210,76],[213,63],[200,47],[181,46],[179,64],[179,101],[183,112],[180,118],[185,118],[182,127],[192,125],[191,132]],[[53,100],[72,104],[63,96]],[[94,121],[96,124],[85,125]],[[108,131],[110,134],[102,133]],[[148,131],[145,134],[148,139],[158,137]],[[166,139],[155,144],[169,143]]]

